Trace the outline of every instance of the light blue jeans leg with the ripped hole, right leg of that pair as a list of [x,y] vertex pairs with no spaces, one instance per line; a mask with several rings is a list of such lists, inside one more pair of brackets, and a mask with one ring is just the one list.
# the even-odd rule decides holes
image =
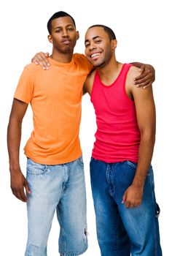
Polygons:
[[87,208],[85,173],[82,157],[66,165],[69,178],[57,207],[60,223],[60,253],[84,252],[87,249]]

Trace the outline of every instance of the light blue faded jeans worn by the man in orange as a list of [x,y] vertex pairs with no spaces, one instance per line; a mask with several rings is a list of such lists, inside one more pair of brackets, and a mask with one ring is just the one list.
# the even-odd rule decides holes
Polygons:
[[87,249],[85,174],[82,157],[63,165],[27,160],[28,242],[25,256],[47,256],[52,218],[60,224],[59,252],[81,255]]

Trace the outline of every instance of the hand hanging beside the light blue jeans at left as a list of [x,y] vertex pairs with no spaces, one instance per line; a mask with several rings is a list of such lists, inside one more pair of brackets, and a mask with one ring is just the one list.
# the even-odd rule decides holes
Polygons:
[[18,172],[11,175],[11,189],[12,193],[17,197],[19,200],[23,202],[27,202],[28,198],[26,197],[26,193],[24,192],[24,188],[28,194],[31,194],[30,189],[28,188],[28,182],[23,176],[23,173]]

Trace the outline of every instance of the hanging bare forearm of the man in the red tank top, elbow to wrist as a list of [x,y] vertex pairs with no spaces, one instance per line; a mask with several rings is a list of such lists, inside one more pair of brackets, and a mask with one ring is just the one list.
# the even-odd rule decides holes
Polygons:
[[133,179],[133,185],[144,187],[146,175],[152,161],[154,145],[155,131],[150,132],[148,135],[141,135],[141,143],[138,151],[138,166]]

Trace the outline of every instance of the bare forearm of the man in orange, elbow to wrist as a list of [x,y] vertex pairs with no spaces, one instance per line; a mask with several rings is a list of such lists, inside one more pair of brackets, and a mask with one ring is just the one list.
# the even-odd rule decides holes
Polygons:
[[21,123],[15,118],[9,120],[7,131],[7,146],[9,153],[9,170],[11,173],[20,170],[19,148],[21,140]]

